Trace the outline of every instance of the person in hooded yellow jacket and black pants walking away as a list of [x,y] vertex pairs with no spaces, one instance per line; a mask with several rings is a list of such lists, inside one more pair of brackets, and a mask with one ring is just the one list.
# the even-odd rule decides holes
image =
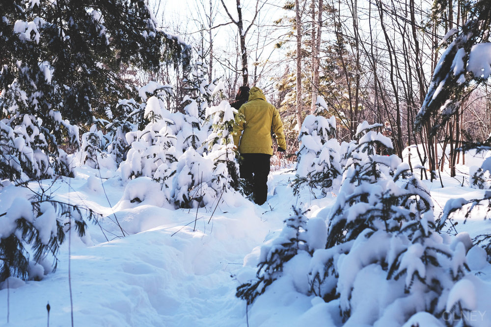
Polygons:
[[[261,89],[253,87],[249,91],[249,100],[236,115],[233,136],[234,144],[244,158],[239,167],[241,178],[252,186],[254,202],[259,205],[266,202],[268,195],[267,181],[273,155],[272,129],[278,141],[278,151],[285,151],[286,140],[278,109],[266,101]],[[250,192],[245,191],[246,194]]]

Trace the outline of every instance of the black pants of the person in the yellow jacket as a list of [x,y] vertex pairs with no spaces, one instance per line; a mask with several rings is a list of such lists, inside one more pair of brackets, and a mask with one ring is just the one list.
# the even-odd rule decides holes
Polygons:
[[261,205],[268,196],[268,174],[271,155],[266,153],[241,153],[241,178],[246,180],[246,195],[254,194],[254,202]]

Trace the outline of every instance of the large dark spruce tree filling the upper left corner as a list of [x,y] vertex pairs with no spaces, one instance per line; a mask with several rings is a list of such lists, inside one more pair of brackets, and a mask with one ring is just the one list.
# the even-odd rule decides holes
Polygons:
[[69,174],[58,149],[78,146],[73,125],[136,96],[123,65],[189,63],[190,48],[156,27],[144,0],[4,0],[0,16],[2,179]]

